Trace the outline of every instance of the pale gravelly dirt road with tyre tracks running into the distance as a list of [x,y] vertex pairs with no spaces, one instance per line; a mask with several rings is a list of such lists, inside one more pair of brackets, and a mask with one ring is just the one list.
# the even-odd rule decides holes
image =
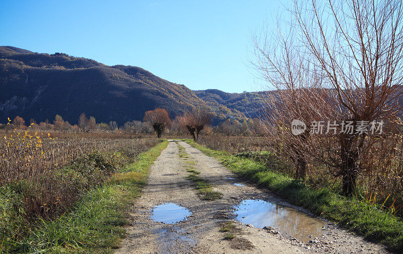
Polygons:
[[[221,192],[222,198],[200,199],[193,183],[186,179],[189,173],[185,169],[186,160],[179,158],[178,144],[185,148],[199,176]],[[278,234],[277,230],[238,222],[233,207],[243,200],[270,200],[292,206],[238,179],[216,159],[184,142],[178,141],[178,144],[170,141],[152,166],[148,185],[130,211],[132,223],[127,228],[128,236],[116,253],[388,253],[383,246],[369,243],[326,221],[323,221],[321,235],[305,242]],[[176,224],[153,221],[153,208],[164,203],[178,204],[192,214]],[[304,216],[297,216],[297,220],[303,220]],[[220,232],[220,228],[225,222],[236,226],[235,238],[224,239],[225,233]]]

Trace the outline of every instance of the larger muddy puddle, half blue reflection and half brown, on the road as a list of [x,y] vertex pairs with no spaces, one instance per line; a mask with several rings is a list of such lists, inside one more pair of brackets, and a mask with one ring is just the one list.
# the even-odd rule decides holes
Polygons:
[[323,221],[290,207],[263,200],[244,200],[234,208],[236,219],[240,222],[257,228],[274,227],[300,241],[307,242],[323,234]]

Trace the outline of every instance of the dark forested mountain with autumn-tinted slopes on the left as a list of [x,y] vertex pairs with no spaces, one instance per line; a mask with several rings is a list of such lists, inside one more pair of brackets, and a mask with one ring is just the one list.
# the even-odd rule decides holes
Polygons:
[[[142,120],[145,111],[165,108],[175,117],[192,107],[210,107],[214,122],[243,120],[253,111],[250,94],[191,91],[133,66],[106,66],[64,53],[35,53],[0,46],[0,122],[17,115],[26,121],[56,114],[77,123],[82,112],[97,122]],[[244,109],[242,105],[244,103]]]

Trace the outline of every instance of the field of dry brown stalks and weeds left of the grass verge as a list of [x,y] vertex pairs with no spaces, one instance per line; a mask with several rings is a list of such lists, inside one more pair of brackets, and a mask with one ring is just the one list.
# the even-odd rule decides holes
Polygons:
[[[8,131],[1,137],[2,253],[27,251],[35,230],[81,210],[80,204],[88,206],[98,188],[131,171],[140,154],[160,143],[153,136],[121,133]],[[46,249],[54,240],[41,244]]]

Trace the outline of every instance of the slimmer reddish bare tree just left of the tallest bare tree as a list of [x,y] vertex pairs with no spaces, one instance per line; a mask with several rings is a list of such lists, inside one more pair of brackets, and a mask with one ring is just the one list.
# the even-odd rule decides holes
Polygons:
[[[260,78],[271,85],[268,89],[277,89],[261,93],[260,119],[268,124],[260,127],[270,129],[264,133],[275,141],[272,149],[277,152],[281,146],[282,153],[295,165],[296,178],[304,179],[309,159],[309,122],[327,117],[331,108],[326,103],[328,92],[321,88],[321,72],[311,62],[310,55],[300,50],[293,30],[283,33],[281,26],[278,29],[278,33],[265,34],[263,38],[255,36],[253,40],[256,56],[253,64]],[[308,125],[295,133],[291,129],[293,120]]]

